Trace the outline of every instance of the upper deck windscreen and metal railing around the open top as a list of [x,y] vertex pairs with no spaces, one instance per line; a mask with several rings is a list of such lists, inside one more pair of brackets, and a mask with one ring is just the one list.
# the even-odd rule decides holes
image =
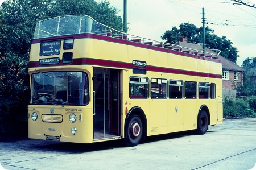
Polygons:
[[34,39],[84,33],[111,36],[113,38],[130,40],[137,43],[143,43],[155,47],[171,49],[184,53],[191,53],[193,55],[205,56],[214,59],[218,59],[218,55],[220,54],[220,51],[217,53],[204,52],[199,49],[182,47],[180,45],[159,42],[156,40],[126,34],[124,32],[117,31],[113,28],[105,26],[104,24],[98,23],[96,20],[87,15],[67,15],[41,20],[36,24]]

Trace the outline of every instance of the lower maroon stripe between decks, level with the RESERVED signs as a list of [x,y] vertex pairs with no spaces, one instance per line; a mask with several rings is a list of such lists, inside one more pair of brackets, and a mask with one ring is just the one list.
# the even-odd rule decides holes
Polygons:
[[[109,61],[109,60],[100,60],[100,59],[87,59],[87,58],[80,58],[80,59],[73,59],[72,63],[63,64],[60,60],[59,64],[56,65],[98,65],[98,66],[105,66],[105,67],[117,67],[117,68],[125,68],[125,69],[133,69],[133,68],[141,68],[141,67],[134,67],[131,63],[123,63],[119,61]],[[47,65],[39,65],[38,61],[31,61],[29,63],[29,67],[52,67],[53,64]],[[211,78],[222,78],[220,74],[210,74],[210,73],[202,73],[202,72],[193,72],[193,71],[185,71],[182,69],[173,69],[173,68],[165,68],[165,67],[156,67],[152,65],[147,65],[147,71],[152,72],[163,72],[163,73],[172,73],[172,74],[183,74],[188,76],[200,76],[200,77],[211,77]]]

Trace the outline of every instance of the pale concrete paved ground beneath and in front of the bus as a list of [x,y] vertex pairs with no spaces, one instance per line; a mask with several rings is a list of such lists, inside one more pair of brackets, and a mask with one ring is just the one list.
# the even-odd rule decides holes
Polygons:
[[0,163],[10,170],[248,170],[256,163],[256,118],[225,120],[224,125],[210,126],[205,135],[185,132],[151,137],[136,147],[122,147],[119,141],[96,144],[44,140],[1,142]]

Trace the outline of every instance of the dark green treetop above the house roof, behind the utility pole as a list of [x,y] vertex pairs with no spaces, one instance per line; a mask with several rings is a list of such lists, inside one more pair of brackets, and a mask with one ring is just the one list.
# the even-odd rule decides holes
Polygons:
[[[188,43],[199,44],[202,42],[203,28],[197,28],[194,24],[181,23],[180,28],[176,26],[172,27],[172,30],[167,30],[161,38],[166,40],[167,43],[175,44],[177,38],[187,38]],[[209,27],[205,27],[205,47],[209,49],[219,49],[221,50],[221,56],[229,59],[230,61],[236,63],[237,60],[237,48],[232,47],[232,42],[226,39],[226,36],[221,38],[213,34],[214,30]]]

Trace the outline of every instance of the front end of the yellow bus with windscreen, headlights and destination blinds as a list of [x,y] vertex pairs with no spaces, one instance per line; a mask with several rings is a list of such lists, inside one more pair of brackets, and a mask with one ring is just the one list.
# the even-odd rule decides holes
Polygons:
[[28,138],[93,142],[92,66],[82,65],[86,48],[78,38],[92,27],[93,19],[82,15],[36,24],[29,64]]

